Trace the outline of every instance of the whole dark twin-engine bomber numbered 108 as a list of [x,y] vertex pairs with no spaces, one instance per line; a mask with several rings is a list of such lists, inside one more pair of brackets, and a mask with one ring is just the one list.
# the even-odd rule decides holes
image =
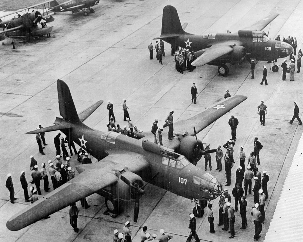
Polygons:
[[[176,8],[168,5],[163,8],[161,36],[154,39],[168,42],[173,50],[181,46],[194,51],[198,58],[191,63],[193,66],[218,65],[218,73],[227,76],[229,70],[226,63],[241,64],[248,57],[275,60],[294,51],[290,44],[271,40],[262,31],[277,16],[278,14],[271,14],[235,34],[195,35],[183,30]],[[278,66],[274,65],[272,70],[278,71]]]

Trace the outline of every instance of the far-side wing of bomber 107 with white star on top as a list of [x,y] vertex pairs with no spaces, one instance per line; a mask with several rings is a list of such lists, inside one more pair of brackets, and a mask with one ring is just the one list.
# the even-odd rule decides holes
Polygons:
[[[186,120],[179,120],[174,123],[174,134],[183,135],[186,132],[190,136],[194,136],[194,126],[196,132],[200,132],[208,125],[215,122],[218,118],[223,116],[228,111],[232,110],[235,106],[247,99],[247,96],[232,96],[226,98],[218,103],[208,107],[205,111]],[[170,147],[171,148],[171,147]]]

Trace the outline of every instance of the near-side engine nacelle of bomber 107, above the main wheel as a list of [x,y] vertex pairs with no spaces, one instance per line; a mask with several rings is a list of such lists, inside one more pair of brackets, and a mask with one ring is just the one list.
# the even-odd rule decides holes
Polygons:
[[144,181],[142,180],[142,178],[138,175],[136,175],[133,172],[123,172],[118,179],[118,182],[116,184],[116,195],[118,196],[119,199],[123,200],[123,201],[132,201],[136,198],[136,196],[138,195],[138,193],[136,192],[136,188],[132,187],[132,185],[128,185],[127,183],[125,183],[125,181],[123,181],[121,179],[121,177],[123,180],[128,180],[130,184],[132,184],[133,186],[137,186],[141,188],[144,185]]

